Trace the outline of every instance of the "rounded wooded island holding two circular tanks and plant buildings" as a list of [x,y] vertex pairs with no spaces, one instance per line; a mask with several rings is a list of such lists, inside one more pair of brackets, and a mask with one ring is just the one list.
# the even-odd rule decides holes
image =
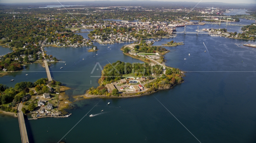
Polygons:
[[[115,67],[115,69],[113,69]],[[164,68],[166,68],[164,70]],[[179,69],[159,64],[125,63],[107,64],[99,79],[100,86],[91,87],[84,97],[134,97],[170,89],[183,82]],[[81,96],[79,96],[81,97]]]

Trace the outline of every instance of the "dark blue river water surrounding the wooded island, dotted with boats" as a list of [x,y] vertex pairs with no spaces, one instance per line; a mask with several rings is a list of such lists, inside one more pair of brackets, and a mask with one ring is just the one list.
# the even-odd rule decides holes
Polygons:
[[[187,29],[195,32],[197,26]],[[239,31],[240,27],[232,29]],[[87,38],[88,33],[80,34]],[[164,55],[165,64],[186,71],[184,83],[143,97],[76,101],[68,118],[26,120],[30,143],[58,142],[97,103],[89,112],[97,116],[85,116],[62,139],[64,142],[255,142],[256,49],[242,45],[255,43],[255,40],[177,34],[176,38],[162,39],[154,45],[171,40],[184,42],[184,45],[166,47],[170,52]],[[89,87],[98,85],[99,77],[91,77],[101,75],[100,70],[96,70],[99,66],[93,71],[97,62],[102,67],[117,60],[141,62],[122,54],[120,48],[124,44],[129,42],[106,46],[94,43],[99,49],[97,52],[87,52],[86,46],[45,47],[47,54],[66,61],[52,64],[52,77],[71,88],[66,91],[70,99],[83,94]],[[206,48],[208,52],[204,52]],[[46,77],[44,72],[42,74]],[[3,78],[0,78],[1,83],[10,84],[9,79]],[[0,122],[2,141],[20,142],[18,120],[1,115]]]

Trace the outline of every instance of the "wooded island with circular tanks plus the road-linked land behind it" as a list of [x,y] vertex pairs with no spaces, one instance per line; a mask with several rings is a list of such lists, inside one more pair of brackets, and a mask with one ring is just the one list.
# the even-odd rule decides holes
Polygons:
[[[170,43],[173,43],[171,41]],[[175,43],[176,44],[176,43]],[[182,42],[180,43],[183,44]],[[144,64],[140,63],[124,63],[121,61],[117,61],[116,63],[107,64],[104,66],[102,71],[102,76],[98,80],[100,86],[97,88],[91,87],[89,90],[86,91],[83,95],[74,96],[75,100],[84,100],[84,99],[91,99],[91,98],[127,98],[127,97],[140,97],[144,95],[149,95],[155,93],[159,90],[171,89],[173,86],[180,84],[183,82],[183,74],[182,71],[179,69],[163,66],[161,63],[158,63],[156,60],[148,59],[148,55],[154,55],[156,52],[146,53],[145,56],[138,56],[130,54],[135,47],[138,47],[139,50],[152,50],[151,47],[148,48],[147,46],[138,46],[137,44],[128,45],[128,47],[123,46],[120,50],[123,51],[123,54],[128,55],[132,58],[139,59]],[[143,49],[144,48],[144,49]],[[145,49],[146,48],[146,49]],[[160,49],[159,49],[160,48]],[[157,48],[160,52],[160,55],[164,55],[169,50],[165,48],[158,47]],[[163,56],[162,57],[162,62]],[[112,65],[116,65],[117,70],[111,70]],[[119,65],[119,66],[118,66]],[[124,68],[125,67],[125,68]],[[134,68],[133,68],[134,67]],[[165,71],[163,69],[166,69]],[[119,71],[122,71],[120,73]],[[144,71],[144,72],[142,72]],[[145,76],[145,77],[144,77]],[[133,84],[130,83],[132,77],[132,81],[137,83]],[[138,86],[139,85],[139,86]],[[111,86],[111,89],[109,88]],[[127,88],[129,87],[129,88]],[[140,89],[138,89],[140,88]],[[134,89],[134,90],[133,90]]]

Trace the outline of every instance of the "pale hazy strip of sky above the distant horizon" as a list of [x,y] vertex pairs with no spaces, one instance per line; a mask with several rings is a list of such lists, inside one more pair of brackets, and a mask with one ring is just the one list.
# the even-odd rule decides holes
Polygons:
[[[85,1],[85,0],[58,0],[58,1]],[[57,0],[0,0],[0,3],[26,3],[26,2],[58,2]],[[86,0],[95,1],[95,0]],[[110,1],[127,1],[127,0],[110,0]],[[200,0],[153,0],[153,1],[189,1],[199,2]],[[224,2],[233,4],[256,4],[256,0],[202,0],[201,2]]]

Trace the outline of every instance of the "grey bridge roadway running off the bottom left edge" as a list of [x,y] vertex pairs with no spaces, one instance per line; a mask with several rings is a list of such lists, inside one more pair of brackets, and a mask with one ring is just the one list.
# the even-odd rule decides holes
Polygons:
[[21,111],[22,104],[20,103],[18,105],[18,119],[19,119],[19,130],[20,130],[20,135],[21,135],[21,141],[22,143],[28,143],[28,134],[27,134],[27,129],[24,121],[24,116]]

